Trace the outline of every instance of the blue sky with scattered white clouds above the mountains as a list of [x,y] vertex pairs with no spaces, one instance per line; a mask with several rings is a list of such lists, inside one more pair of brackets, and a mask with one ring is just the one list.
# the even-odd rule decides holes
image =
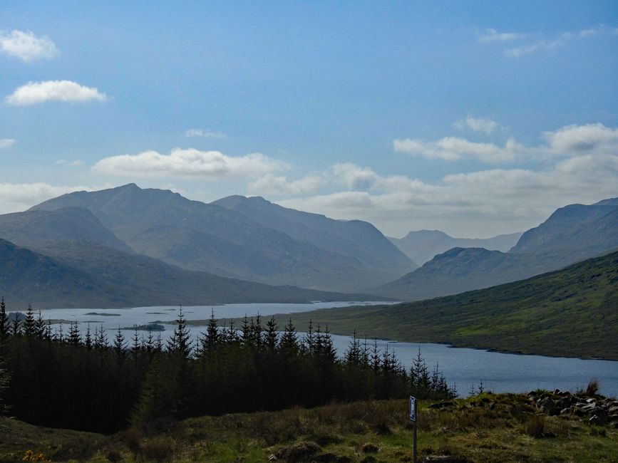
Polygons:
[[11,1],[0,212],[135,182],[384,233],[618,196],[618,2]]

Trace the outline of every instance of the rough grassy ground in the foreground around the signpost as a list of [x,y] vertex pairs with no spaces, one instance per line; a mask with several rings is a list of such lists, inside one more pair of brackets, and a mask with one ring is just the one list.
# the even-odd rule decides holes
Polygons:
[[[405,400],[152,423],[112,436],[0,418],[0,461],[410,462]],[[617,462],[618,430],[541,415],[526,395],[421,402],[419,457],[461,462]],[[27,455],[28,456],[28,455]],[[419,461],[421,458],[419,458]],[[30,460],[30,461],[34,461]],[[451,460],[455,461],[455,460]]]

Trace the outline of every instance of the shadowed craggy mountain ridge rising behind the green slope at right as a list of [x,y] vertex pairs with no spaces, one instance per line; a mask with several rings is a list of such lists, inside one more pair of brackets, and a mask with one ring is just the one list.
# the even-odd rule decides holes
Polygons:
[[454,248],[373,290],[418,301],[488,288],[561,269],[618,249],[618,199],[571,204],[525,231],[509,252]]

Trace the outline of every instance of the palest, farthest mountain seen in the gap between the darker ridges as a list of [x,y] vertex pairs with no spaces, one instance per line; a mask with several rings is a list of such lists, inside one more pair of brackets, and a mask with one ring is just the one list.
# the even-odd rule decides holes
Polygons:
[[434,256],[453,248],[484,248],[490,251],[506,252],[520,239],[520,232],[493,236],[486,239],[453,238],[439,230],[410,231],[403,238],[388,238],[403,254],[419,265],[425,264]]

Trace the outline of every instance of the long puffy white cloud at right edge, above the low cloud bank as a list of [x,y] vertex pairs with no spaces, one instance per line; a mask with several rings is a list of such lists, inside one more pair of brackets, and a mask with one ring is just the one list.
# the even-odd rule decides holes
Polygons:
[[503,146],[472,142],[460,137],[444,137],[437,141],[404,138],[393,141],[393,150],[428,159],[475,159],[489,163],[547,161],[552,157],[618,152],[618,129],[607,128],[601,123],[567,125],[554,132],[544,132],[542,137],[545,144],[532,147],[522,145],[513,138],[509,138]]

